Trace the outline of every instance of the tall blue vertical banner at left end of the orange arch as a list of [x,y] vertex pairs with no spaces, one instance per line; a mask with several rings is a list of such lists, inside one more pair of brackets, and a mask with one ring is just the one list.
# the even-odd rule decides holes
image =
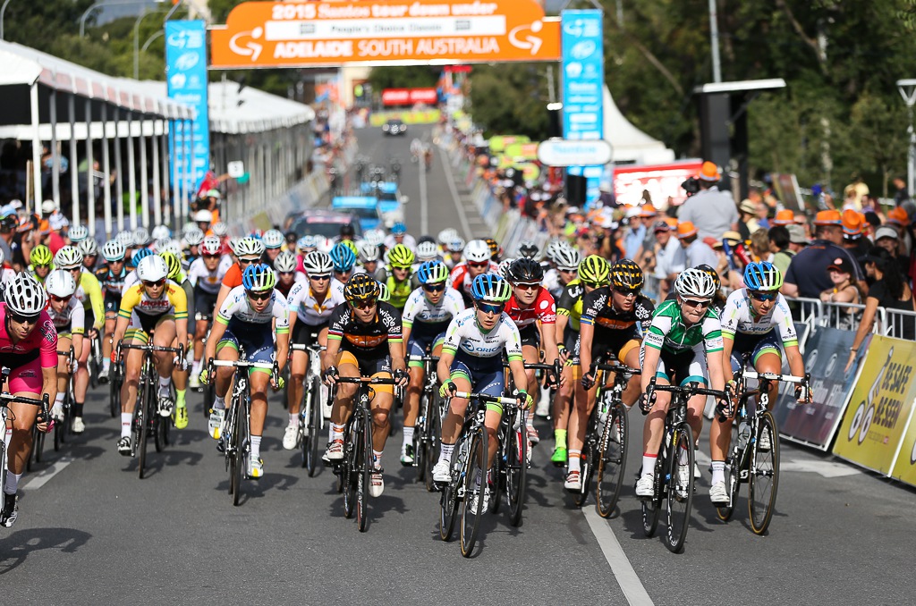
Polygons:
[[[184,121],[176,122],[174,133],[169,137],[172,182],[190,175],[187,189],[193,193],[210,168],[207,28],[202,20],[166,23],[166,81],[170,99],[191,105],[197,111],[191,129]],[[189,146],[190,154],[187,153]]]

